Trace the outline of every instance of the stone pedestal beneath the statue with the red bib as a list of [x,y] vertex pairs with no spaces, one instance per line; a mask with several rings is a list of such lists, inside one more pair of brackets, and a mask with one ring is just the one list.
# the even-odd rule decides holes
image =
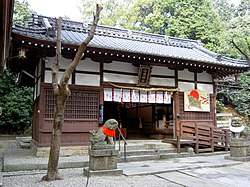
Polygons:
[[100,149],[89,151],[89,168],[84,169],[84,175],[122,175],[123,171],[117,169],[117,156],[115,149]]

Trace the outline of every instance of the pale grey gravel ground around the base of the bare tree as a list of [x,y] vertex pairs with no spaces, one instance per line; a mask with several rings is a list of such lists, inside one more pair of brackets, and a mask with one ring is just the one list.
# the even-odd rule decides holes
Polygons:
[[[87,177],[83,169],[59,170],[63,180],[52,182],[41,181],[46,171],[4,172],[3,187],[84,187]],[[180,187],[180,185],[159,178],[155,175],[143,176],[92,176],[88,187]]]

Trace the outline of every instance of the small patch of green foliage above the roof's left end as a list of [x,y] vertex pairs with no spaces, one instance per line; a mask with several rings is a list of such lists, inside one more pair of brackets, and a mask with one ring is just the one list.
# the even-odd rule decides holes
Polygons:
[[25,26],[31,18],[32,10],[27,0],[15,0],[13,21],[15,24]]

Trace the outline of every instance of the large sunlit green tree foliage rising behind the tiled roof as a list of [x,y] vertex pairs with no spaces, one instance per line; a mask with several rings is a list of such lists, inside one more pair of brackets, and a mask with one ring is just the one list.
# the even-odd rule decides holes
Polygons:
[[[92,19],[93,1],[82,0],[83,17]],[[199,40],[230,57],[249,56],[250,0],[101,0],[100,24]],[[233,45],[232,41],[241,49]],[[242,52],[244,55],[242,55]]]

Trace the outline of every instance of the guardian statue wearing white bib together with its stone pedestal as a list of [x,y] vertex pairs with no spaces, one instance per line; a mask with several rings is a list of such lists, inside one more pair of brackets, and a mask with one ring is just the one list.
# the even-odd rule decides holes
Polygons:
[[232,119],[232,124],[229,127],[232,132],[230,139],[230,156],[226,156],[226,159],[236,161],[250,161],[248,133],[245,130],[243,121],[239,117]]

